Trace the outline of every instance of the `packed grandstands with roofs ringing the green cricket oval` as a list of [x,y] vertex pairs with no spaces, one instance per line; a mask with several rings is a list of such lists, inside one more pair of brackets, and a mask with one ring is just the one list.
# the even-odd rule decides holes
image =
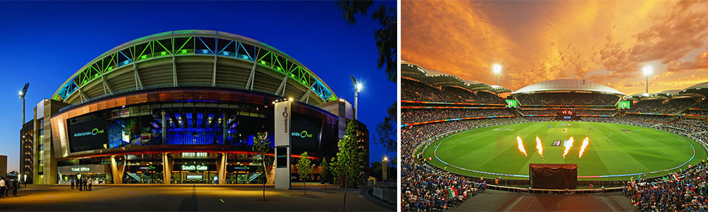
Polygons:
[[[701,90],[701,88],[703,88]],[[625,95],[585,80],[535,83],[512,91],[455,76],[430,75],[401,63],[401,209],[445,210],[494,184],[493,178],[469,177],[426,163],[421,149],[442,136],[486,126],[550,122],[572,111],[583,122],[644,126],[708,143],[708,83],[683,90]],[[502,96],[506,96],[502,98]],[[518,101],[506,107],[506,100]],[[619,102],[630,101],[629,109]],[[675,177],[624,182],[625,196],[642,211],[695,211],[708,201],[706,163],[677,170]],[[628,178],[629,179],[629,178]],[[598,186],[599,187],[599,186]]]

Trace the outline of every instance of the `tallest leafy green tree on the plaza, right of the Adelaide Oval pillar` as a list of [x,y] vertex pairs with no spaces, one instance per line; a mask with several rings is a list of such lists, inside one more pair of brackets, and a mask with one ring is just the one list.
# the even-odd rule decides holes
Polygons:
[[343,211],[346,209],[347,201],[347,189],[349,187],[356,188],[358,184],[364,181],[364,169],[367,164],[365,164],[364,157],[366,156],[366,151],[363,148],[359,148],[357,145],[358,141],[362,141],[363,134],[357,132],[358,122],[351,121],[347,126],[346,134],[341,140],[339,140],[339,152],[337,153],[337,159],[333,160],[336,167],[336,176],[341,179],[341,183],[344,186],[344,206]]

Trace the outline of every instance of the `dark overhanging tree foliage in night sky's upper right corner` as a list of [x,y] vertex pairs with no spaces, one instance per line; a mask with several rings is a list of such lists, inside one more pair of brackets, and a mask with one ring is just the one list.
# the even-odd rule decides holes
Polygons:
[[[368,9],[373,5],[373,1],[355,1],[355,0],[340,0],[337,1],[339,10],[342,11],[342,18],[350,25],[356,23],[356,16],[359,14],[365,16]],[[378,68],[385,66],[387,78],[390,81],[396,81],[396,48],[397,48],[397,30],[396,30],[396,9],[388,8],[384,4],[380,5],[377,10],[372,13],[371,19],[375,20],[381,28],[374,33],[376,47],[379,50]]]

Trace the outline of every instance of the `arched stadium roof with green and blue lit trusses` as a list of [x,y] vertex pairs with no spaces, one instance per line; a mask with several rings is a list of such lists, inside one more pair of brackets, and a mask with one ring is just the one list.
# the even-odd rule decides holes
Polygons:
[[256,90],[315,104],[337,99],[321,78],[284,52],[215,30],[169,31],[113,47],[76,71],[52,99],[74,104],[177,86]]

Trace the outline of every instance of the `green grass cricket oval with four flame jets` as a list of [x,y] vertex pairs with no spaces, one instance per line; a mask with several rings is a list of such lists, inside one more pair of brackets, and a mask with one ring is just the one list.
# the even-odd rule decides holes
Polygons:
[[[566,132],[563,132],[563,129],[566,129]],[[519,151],[516,136],[523,139],[527,156]],[[537,152],[536,136],[542,141],[543,157]],[[562,143],[571,136],[575,141],[564,158],[565,148]],[[586,136],[590,142],[582,158],[579,158],[581,144]],[[561,146],[551,146],[555,140],[560,140]],[[574,163],[578,165],[578,176],[625,175],[672,169],[688,161],[680,167],[685,169],[688,165],[695,165],[702,158],[706,158],[707,153],[692,139],[642,126],[599,122],[531,122],[489,126],[446,136],[431,143],[423,155],[433,158],[428,160],[428,163],[460,175],[498,177],[469,170],[528,175],[529,163]],[[446,165],[440,160],[467,170]],[[647,174],[646,177],[666,175],[675,171],[678,169]],[[624,179],[629,179],[629,176],[579,178]]]

